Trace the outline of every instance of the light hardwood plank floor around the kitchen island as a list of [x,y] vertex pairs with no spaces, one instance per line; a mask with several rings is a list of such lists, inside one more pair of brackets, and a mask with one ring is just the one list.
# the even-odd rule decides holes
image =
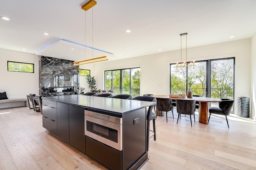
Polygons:
[[[156,119],[142,170],[255,170],[256,123],[236,116],[211,117],[209,125],[168,113]],[[152,127],[152,124],[151,124]],[[42,127],[42,115],[28,107],[0,109],[0,169],[106,169]]]

